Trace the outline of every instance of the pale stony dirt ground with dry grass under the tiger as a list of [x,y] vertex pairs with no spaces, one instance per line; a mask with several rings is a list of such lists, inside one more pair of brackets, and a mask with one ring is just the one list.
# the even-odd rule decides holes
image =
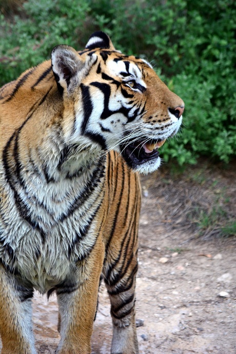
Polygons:
[[[233,222],[235,214],[235,167],[222,170],[203,161],[181,175],[161,168],[142,178],[140,354],[236,353],[236,238],[220,233],[224,219]],[[33,302],[38,353],[52,354],[60,338],[56,298],[36,295]],[[102,284],[93,354],[110,353],[109,311]]]

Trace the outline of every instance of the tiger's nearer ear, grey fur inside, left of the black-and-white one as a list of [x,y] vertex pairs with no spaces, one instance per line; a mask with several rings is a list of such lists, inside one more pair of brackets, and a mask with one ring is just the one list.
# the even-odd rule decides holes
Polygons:
[[52,71],[58,90],[72,92],[88,74],[96,58],[93,54],[82,60],[82,57],[72,47],[66,45],[54,47],[51,53]]

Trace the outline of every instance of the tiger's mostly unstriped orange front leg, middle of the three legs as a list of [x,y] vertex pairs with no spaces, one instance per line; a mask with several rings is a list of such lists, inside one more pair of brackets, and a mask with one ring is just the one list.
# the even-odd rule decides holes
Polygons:
[[104,260],[104,246],[99,238],[89,258],[77,266],[74,283],[57,287],[61,340],[56,354],[91,353],[91,335],[97,293]]

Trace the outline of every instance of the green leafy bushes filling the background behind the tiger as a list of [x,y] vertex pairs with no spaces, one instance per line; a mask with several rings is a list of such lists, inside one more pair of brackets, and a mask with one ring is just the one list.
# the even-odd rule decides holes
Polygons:
[[0,16],[0,86],[49,58],[53,46],[82,49],[101,29],[117,49],[148,58],[185,101],[182,134],[163,146],[165,161],[235,156],[234,0],[29,0],[13,19]]

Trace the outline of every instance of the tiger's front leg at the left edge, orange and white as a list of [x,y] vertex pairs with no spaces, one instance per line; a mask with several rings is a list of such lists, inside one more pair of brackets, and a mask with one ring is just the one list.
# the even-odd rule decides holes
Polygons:
[[1,354],[36,354],[32,331],[33,288],[0,265]]

